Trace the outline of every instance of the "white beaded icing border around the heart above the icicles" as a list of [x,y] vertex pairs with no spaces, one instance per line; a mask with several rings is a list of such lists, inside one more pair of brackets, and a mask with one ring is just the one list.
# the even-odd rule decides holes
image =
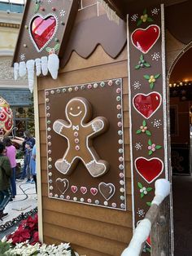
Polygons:
[[[56,20],[56,25],[55,25],[55,31],[54,31],[54,33],[52,34],[51,38],[46,42],[46,44],[41,47],[41,49],[39,49],[39,48],[37,47],[37,44],[36,44],[36,42],[34,41],[33,35],[32,35],[32,32],[31,32],[31,25],[32,25],[32,22],[33,22],[33,20],[34,20],[37,16],[41,17],[41,19],[43,19],[43,20],[46,20],[46,18],[49,17],[49,16],[54,16],[54,17],[55,17],[55,20]],[[57,33],[58,26],[59,26],[59,20],[58,20],[57,15],[55,15],[54,13],[48,13],[48,14],[46,14],[46,15],[41,15],[41,13],[36,13],[35,15],[33,15],[33,17],[31,18],[31,20],[29,21],[28,33],[29,33],[29,38],[31,39],[31,42],[33,42],[33,46],[35,46],[35,49],[37,50],[37,52],[41,52],[42,50],[44,50],[44,49],[46,48],[46,46],[50,43],[50,41],[55,37],[55,33]]]

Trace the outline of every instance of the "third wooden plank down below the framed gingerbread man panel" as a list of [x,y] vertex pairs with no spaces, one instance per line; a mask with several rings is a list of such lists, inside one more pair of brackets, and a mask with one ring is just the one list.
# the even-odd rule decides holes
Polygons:
[[[110,254],[111,256],[120,255],[126,247],[125,243],[103,239],[98,236],[91,236],[82,232],[73,232],[68,228],[65,228],[63,231],[63,227],[50,225],[48,223],[44,223],[43,230],[45,234],[51,233],[56,239],[71,241],[71,243],[94,249],[98,251],[98,255],[100,252]],[[102,232],[103,230],[101,230],[101,234]]]

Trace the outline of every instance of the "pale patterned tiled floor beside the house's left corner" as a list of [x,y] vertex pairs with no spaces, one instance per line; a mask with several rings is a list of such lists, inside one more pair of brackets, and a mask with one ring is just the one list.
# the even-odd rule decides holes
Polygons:
[[37,206],[37,194],[35,192],[34,183],[26,183],[24,181],[16,181],[17,195],[13,201],[9,202],[5,213],[8,213],[6,218],[0,220],[0,225],[7,223],[7,221],[18,217],[22,212],[26,213],[29,210],[33,210]]

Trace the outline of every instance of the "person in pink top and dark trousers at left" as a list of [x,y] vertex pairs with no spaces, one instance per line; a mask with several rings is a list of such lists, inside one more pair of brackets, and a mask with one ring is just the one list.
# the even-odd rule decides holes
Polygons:
[[[16,196],[16,148],[11,143],[10,138],[3,139],[3,143],[5,144],[6,150],[5,150],[5,156],[9,158],[9,161],[11,163],[12,168],[12,176],[11,176],[11,192],[12,192],[12,198],[15,198]],[[11,201],[12,201],[11,198]]]

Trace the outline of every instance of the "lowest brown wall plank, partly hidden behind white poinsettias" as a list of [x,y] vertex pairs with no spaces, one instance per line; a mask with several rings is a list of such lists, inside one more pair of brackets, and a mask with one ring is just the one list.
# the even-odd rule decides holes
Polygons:
[[[49,234],[47,234],[47,236],[44,236],[44,242],[47,245],[59,245],[60,243],[63,243],[63,240],[60,241],[59,239],[54,239],[53,237],[48,236]],[[68,241],[66,241],[68,242]],[[75,243],[72,244],[72,249],[74,249],[79,255],[86,255],[88,256],[98,256],[98,252],[89,248],[85,248],[79,245],[76,245]],[[101,252],[99,252],[99,256],[111,256],[109,254],[103,254]]]

